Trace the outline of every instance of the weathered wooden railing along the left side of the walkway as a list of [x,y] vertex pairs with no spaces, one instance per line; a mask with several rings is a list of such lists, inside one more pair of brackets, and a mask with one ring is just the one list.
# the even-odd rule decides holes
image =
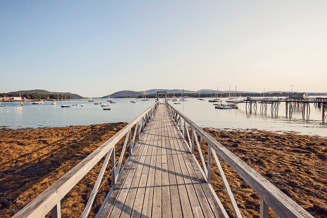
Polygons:
[[[140,139],[141,134],[144,131],[147,123],[152,117],[155,108],[158,103],[155,102],[151,107],[149,107],[146,111],[144,111],[141,115],[133,119],[129,124],[127,124],[122,130],[112,136],[108,141],[103,143],[99,148],[97,148],[94,152],[88,155],[84,160],[79,162],[75,167],[73,167],[70,171],[64,174],[60,179],[58,179],[55,183],[53,183],[49,188],[43,191],[40,195],[38,195],[34,200],[32,200],[29,204],[27,204],[23,209],[18,211],[13,218],[37,218],[37,217],[45,217],[50,211],[52,218],[60,218],[60,200],[88,173],[100,160],[102,157],[106,155],[106,158],[103,162],[102,168],[99,172],[97,180],[95,182],[94,188],[91,192],[89,200],[86,204],[86,207],[81,214],[80,217],[87,217],[93,201],[95,199],[95,195],[99,190],[101,180],[106,171],[107,165],[109,163],[110,157],[112,159],[112,167],[110,173],[112,173],[112,188],[109,191],[104,203],[109,198],[121,172],[125,168],[126,163],[129,160],[130,155],[134,149],[134,141],[136,134],[138,135],[138,140]],[[134,134],[132,138],[131,130],[135,126]],[[115,145],[117,142],[126,135],[125,142],[122,148],[122,152],[120,158],[117,162],[115,162]],[[120,170],[122,159],[125,151],[129,148],[129,157],[126,160],[125,165]],[[104,204],[102,204],[99,212],[102,211]],[[98,212],[98,214],[99,214]],[[97,216],[98,216],[97,214]]]

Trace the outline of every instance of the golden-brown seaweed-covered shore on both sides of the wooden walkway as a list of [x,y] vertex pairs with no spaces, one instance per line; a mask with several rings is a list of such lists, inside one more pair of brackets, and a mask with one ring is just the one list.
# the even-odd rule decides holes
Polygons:
[[[0,131],[0,217],[11,217],[127,123]],[[267,178],[314,217],[327,218],[327,139],[260,130],[216,130],[211,136]],[[119,158],[123,140],[117,143]],[[200,143],[206,157],[207,145]],[[195,150],[197,157],[197,151]],[[125,159],[123,160],[123,162]],[[259,217],[259,196],[221,158],[235,200],[246,217]],[[101,160],[61,200],[62,217],[79,217],[90,196]],[[213,164],[211,184],[228,214],[228,196]],[[215,176],[217,175],[217,177]],[[111,175],[96,195],[94,217],[111,188]],[[274,217],[271,211],[270,217]]]

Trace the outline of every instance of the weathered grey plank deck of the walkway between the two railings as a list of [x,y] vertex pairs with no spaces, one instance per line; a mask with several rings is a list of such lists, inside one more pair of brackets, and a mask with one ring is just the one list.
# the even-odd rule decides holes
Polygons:
[[99,217],[224,214],[166,105],[159,104]]

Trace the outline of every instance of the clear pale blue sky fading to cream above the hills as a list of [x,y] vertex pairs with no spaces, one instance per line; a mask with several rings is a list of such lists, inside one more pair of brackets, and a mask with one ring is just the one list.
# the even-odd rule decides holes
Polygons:
[[0,0],[0,92],[327,92],[326,70],[326,0]]

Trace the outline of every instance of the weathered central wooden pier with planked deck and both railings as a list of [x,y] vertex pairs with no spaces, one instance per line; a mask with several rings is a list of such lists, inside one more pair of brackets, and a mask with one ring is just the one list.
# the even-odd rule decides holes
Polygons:
[[[115,144],[123,137],[116,161]],[[208,144],[207,159],[199,140]],[[167,102],[154,103],[13,217],[61,217],[60,200],[105,157],[85,210],[76,217],[88,217],[106,171],[112,188],[95,217],[229,217],[210,184],[215,164],[234,215],[242,218],[218,155],[260,196],[260,218],[268,218],[269,208],[275,217],[313,217]]]

